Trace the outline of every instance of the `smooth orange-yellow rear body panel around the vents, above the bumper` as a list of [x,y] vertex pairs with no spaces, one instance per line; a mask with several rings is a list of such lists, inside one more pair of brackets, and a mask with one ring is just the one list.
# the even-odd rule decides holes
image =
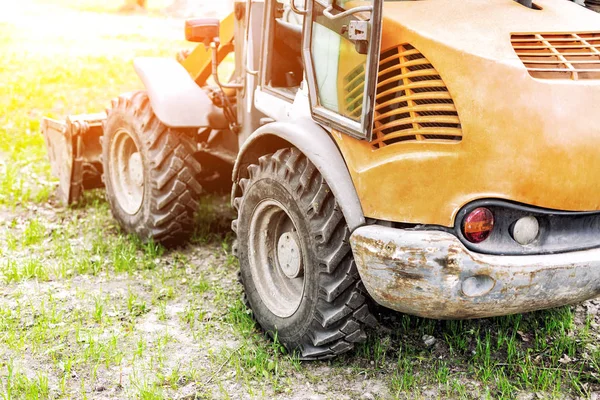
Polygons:
[[452,226],[481,198],[600,210],[600,80],[535,79],[513,33],[600,32],[600,15],[539,0],[385,2],[382,51],[408,43],[454,99],[462,138],[374,149],[335,133],[366,217]]

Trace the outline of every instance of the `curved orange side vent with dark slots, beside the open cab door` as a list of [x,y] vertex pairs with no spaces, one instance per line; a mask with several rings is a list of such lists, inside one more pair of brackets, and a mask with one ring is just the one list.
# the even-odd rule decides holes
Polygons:
[[444,81],[409,44],[381,54],[374,121],[375,149],[408,141],[462,140],[460,119]]

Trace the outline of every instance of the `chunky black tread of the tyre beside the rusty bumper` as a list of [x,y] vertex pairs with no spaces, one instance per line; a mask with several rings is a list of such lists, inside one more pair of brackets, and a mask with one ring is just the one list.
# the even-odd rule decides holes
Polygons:
[[[240,191],[232,204],[240,218],[244,193],[253,181],[276,175],[290,188],[301,207],[305,207],[309,227],[316,239],[319,259],[319,298],[310,329],[299,343],[285,343],[298,350],[303,360],[322,360],[350,351],[366,340],[365,328],[376,323],[367,305],[367,294],[360,281],[348,243],[348,228],[329,186],[315,166],[296,148],[285,148],[262,156],[248,166],[248,176],[239,182]],[[232,228],[238,234],[238,219]],[[241,274],[240,282],[243,285]],[[245,304],[251,308],[244,295]],[[281,339],[281,338],[280,338]]]

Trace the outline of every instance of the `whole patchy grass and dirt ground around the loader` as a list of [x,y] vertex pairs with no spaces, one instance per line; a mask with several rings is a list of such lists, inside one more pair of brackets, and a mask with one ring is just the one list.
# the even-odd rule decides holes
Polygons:
[[[141,87],[133,57],[172,56],[189,45],[174,31],[181,21],[152,13],[123,20],[110,14],[116,2],[36,4],[45,8],[0,19],[0,398],[600,391],[597,303],[475,321],[385,311],[384,328],[354,353],[301,363],[265,337],[240,301],[226,197],[202,200],[192,245],[174,251],[121,232],[101,190],[60,206],[41,117],[103,110]],[[78,28],[32,30],[47,12]],[[436,343],[427,347],[424,335]]]

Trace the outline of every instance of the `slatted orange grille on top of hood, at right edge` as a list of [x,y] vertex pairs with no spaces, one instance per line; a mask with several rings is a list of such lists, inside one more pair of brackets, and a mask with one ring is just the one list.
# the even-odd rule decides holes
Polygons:
[[540,79],[600,79],[600,32],[513,34],[513,48]]

